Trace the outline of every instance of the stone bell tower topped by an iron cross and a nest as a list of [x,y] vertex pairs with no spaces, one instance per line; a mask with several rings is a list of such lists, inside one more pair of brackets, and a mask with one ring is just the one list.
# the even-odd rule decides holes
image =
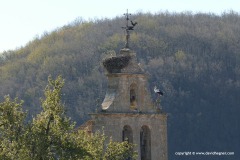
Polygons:
[[129,49],[129,31],[125,14],[126,46],[120,53],[103,61],[108,88],[101,111],[91,114],[92,131],[102,130],[115,141],[136,144],[138,160],[167,160],[167,115],[153,104],[147,75],[137,63],[136,53]]

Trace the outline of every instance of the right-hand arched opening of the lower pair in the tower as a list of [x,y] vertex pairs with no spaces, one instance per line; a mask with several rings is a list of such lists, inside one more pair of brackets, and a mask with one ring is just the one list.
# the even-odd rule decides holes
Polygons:
[[148,126],[140,130],[141,160],[151,160],[151,131]]

